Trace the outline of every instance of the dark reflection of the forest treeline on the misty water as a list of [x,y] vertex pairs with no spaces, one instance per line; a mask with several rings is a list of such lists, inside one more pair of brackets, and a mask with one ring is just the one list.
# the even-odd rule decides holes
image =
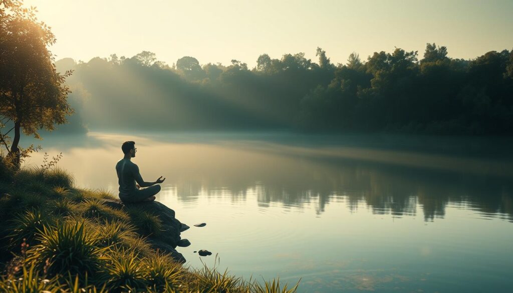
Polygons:
[[[419,145],[427,144],[416,139],[403,140],[397,148],[389,140],[384,144],[367,138],[361,143],[364,147],[352,138],[325,139],[317,146],[308,136],[266,139],[93,133],[79,139],[52,139],[44,147],[50,153],[64,152],[61,167],[75,174],[79,186],[109,186],[113,192],[115,172],[96,170],[111,170],[119,160],[121,142],[134,140],[141,149],[137,164],[148,170],[145,175],[166,174],[170,183],[165,188],[182,202],[199,197],[241,202],[251,195],[263,208],[271,204],[301,208],[313,203],[322,214],[331,201],[344,201],[352,212],[367,207],[376,214],[403,217],[422,211],[426,221],[443,218],[446,207],[452,205],[513,222],[513,160],[507,153],[486,148],[470,153],[468,149],[475,147],[465,146],[475,146],[473,140],[451,139],[436,144],[440,149],[433,151],[432,147],[420,149]],[[502,148],[508,145],[497,143]],[[466,151],[458,156],[447,145]],[[35,154],[32,162],[37,164],[38,155],[42,154]]]

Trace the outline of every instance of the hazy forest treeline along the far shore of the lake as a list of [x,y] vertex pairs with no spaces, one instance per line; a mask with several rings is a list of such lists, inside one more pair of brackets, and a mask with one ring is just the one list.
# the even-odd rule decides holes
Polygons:
[[[200,65],[185,56],[172,66],[144,51],[133,57],[57,61],[75,108],[68,129],[294,130],[429,134],[513,133],[513,50],[473,60],[453,59],[446,47],[397,48],[362,61],[352,53],[333,65],[304,53],[257,66]],[[61,126],[61,128],[66,128]]]

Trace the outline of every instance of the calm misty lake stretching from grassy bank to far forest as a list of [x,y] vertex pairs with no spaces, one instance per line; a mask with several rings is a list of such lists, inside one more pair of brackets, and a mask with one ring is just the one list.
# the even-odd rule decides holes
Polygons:
[[513,287],[510,139],[90,133],[37,143],[63,153],[58,166],[77,186],[117,194],[127,140],[145,181],[167,178],[157,201],[191,226],[182,238],[192,245],[177,250],[192,267],[217,254],[219,270],[301,278],[300,292]]

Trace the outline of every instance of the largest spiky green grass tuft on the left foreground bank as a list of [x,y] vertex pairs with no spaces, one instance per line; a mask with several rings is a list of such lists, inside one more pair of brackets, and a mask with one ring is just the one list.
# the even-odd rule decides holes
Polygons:
[[36,268],[46,265],[50,275],[84,277],[94,275],[104,261],[107,248],[98,247],[94,231],[82,223],[56,223],[43,227],[37,240],[41,243],[27,252],[27,262],[33,262]]

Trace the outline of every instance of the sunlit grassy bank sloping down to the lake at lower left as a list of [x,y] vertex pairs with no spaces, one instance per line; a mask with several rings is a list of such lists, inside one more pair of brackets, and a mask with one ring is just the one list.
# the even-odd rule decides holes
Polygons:
[[278,281],[184,267],[148,243],[159,217],[102,204],[111,198],[74,187],[62,169],[0,164],[0,291],[295,292]]

